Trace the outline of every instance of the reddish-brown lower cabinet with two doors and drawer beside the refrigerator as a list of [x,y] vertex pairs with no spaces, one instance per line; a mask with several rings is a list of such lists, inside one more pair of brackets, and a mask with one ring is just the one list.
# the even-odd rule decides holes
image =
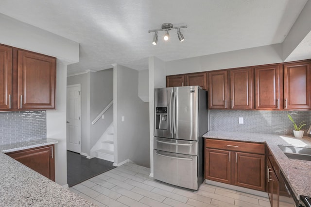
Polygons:
[[206,139],[205,146],[206,179],[265,191],[264,144]]

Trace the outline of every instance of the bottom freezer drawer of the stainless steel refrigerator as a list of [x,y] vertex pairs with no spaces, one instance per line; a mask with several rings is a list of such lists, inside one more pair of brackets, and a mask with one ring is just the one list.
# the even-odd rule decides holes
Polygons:
[[154,178],[165,183],[198,190],[197,156],[154,150]]

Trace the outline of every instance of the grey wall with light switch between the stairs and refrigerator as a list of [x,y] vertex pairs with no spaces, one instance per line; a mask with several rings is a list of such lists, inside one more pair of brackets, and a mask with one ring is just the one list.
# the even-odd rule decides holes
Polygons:
[[115,164],[129,159],[150,167],[149,104],[138,97],[138,71],[121,65],[113,70]]

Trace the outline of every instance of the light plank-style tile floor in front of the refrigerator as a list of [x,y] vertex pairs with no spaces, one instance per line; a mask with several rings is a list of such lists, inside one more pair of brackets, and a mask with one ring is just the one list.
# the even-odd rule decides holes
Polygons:
[[99,207],[270,207],[268,198],[205,183],[186,190],[149,174],[149,168],[126,163],[69,190]]

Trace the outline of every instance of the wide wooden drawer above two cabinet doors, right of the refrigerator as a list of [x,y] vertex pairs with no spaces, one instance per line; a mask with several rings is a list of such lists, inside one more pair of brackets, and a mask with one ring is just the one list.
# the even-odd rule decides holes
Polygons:
[[265,154],[264,144],[259,144],[259,143],[226,141],[226,140],[219,140],[219,139],[206,139],[205,143],[206,143],[206,147],[208,148],[232,150],[232,151],[238,151],[238,152],[262,154],[262,155]]

